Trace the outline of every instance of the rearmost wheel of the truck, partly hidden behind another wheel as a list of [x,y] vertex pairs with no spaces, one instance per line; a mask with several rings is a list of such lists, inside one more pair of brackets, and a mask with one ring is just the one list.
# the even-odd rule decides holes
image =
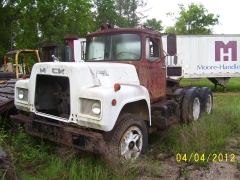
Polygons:
[[213,108],[213,96],[210,88],[208,87],[201,88],[200,100],[201,100],[201,113],[207,112],[207,114],[210,114]]

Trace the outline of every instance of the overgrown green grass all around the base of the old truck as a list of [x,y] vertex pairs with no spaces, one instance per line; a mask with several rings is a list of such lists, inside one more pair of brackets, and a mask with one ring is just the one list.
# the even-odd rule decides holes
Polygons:
[[[0,178],[24,180],[118,180],[136,179],[139,176],[157,178],[163,172],[161,162],[156,158],[160,153],[172,156],[177,153],[181,155],[197,153],[205,156],[209,153],[229,154],[230,152],[226,152],[229,139],[240,135],[240,78],[230,79],[227,85],[228,93],[221,93],[222,87],[214,89],[214,85],[207,79],[181,80],[181,85],[186,84],[208,86],[212,89],[214,100],[212,114],[202,114],[199,121],[189,125],[178,124],[150,134],[149,148],[145,157],[135,162],[106,161],[99,155],[78,153],[66,146],[31,137],[21,131],[17,133],[11,128],[1,128],[0,149],[7,152],[9,168],[7,170],[0,168],[0,174],[4,175],[4,177],[0,175]],[[239,164],[237,161],[238,168]],[[183,177],[188,176],[187,169],[183,169],[181,173]]]

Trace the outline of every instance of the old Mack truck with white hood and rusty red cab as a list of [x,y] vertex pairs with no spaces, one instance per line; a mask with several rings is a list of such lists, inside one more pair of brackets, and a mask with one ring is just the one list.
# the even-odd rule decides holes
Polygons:
[[[174,35],[167,49],[176,54]],[[37,63],[29,79],[17,81],[15,106],[29,115],[11,118],[30,135],[136,158],[148,133],[212,111],[209,88],[166,78],[166,56],[160,34],[103,24],[86,36],[84,62]]]

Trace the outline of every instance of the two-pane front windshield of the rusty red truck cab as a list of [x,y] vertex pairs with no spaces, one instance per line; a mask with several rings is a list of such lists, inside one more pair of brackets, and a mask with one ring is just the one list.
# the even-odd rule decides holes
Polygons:
[[141,38],[137,34],[115,34],[87,39],[85,61],[139,59]]

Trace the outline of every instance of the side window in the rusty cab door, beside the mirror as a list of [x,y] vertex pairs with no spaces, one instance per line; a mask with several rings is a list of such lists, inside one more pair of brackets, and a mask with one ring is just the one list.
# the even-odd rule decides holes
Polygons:
[[146,59],[157,60],[160,58],[159,39],[146,38]]

